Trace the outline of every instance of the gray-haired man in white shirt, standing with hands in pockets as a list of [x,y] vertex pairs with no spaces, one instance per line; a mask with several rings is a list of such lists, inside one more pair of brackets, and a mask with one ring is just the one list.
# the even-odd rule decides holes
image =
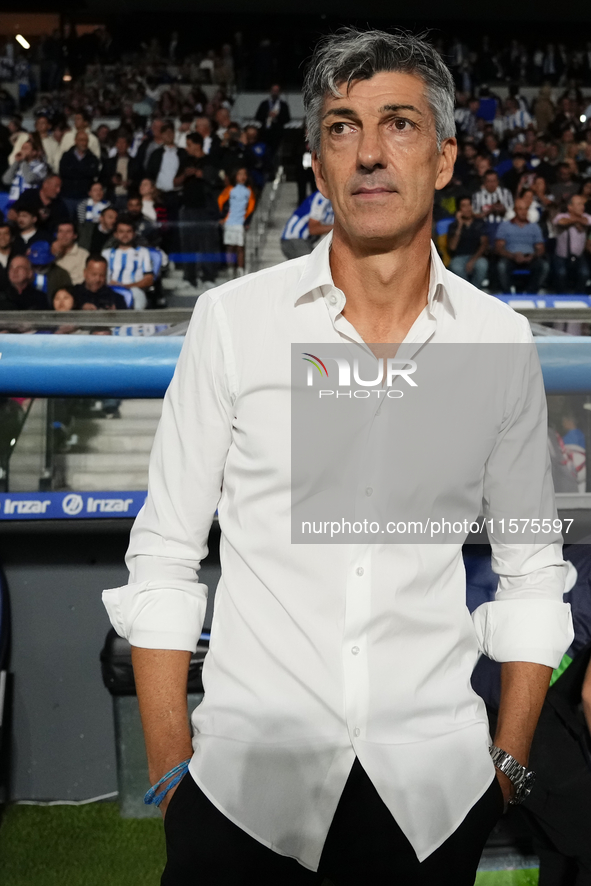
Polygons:
[[[352,493],[359,512],[408,473],[385,436],[401,401],[387,399],[381,362],[363,424],[351,441],[335,436],[334,452],[306,435],[305,416],[293,418],[292,400],[314,394],[314,373],[322,387],[337,385],[325,349],[345,349],[357,375],[358,361],[372,371],[388,346],[420,354],[431,342],[479,352],[507,343],[532,353],[527,321],[448,272],[431,243],[434,191],[456,157],[453,97],[449,71],[419,37],[345,29],[324,38],[304,99],[333,231],[310,255],[197,303],[131,534],[129,583],[103,595],[132,647],[154,784],[146,802],[165,811],[163,886],[469,886],[505,804],[529,791],[533,730],[572,638],[560,536],[533,553],[493,542],[498,597],[473,620],[465,534],[429,545],[292,543],[298,432],[310,462],[328,460],[318,482],[314,465],[304,471],[311,500],[331,481],[345,488],[338,448],[349,442],[365,472]],[[539,363],[519,359],[524,384],[486,401],[490,435],[466,452],[459,434],[462,457],[454,449],[438,473],[447,513],[458,499],[485,517],[509,511],[515,496],[554,507]],[[354,402],[340,393],[336,406]],[[437,428],[424,437],[413,446],[433,453]],[[386,453],[381,467],[374,446]],[[433,491],[422,475],[413,483],[432,513]],[[216,510],[222,577],[191,735],[187,673],[207,596],[198,571]],[[480,651],[503,662],[495,746],[470,687]]]

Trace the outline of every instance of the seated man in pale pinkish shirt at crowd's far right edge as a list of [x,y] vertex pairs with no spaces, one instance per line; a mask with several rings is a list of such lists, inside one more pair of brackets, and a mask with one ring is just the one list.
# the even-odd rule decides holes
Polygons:
[[554,218],[556,250],[553,270],[558,292],[569,292],[574,284],[575,292],[584,292],[589,279],[589,259],[586,250],[587,236],[591,227],[591,215],[585,212],[585,198],[574,194],[566,212]]

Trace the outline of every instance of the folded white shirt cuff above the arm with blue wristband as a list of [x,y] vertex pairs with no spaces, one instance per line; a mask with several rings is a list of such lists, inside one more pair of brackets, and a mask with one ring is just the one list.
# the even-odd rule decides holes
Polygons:
[[103,591],[103,603],[120,637],[144,649],[195,652],[207,605],[207,587],[163,588],[143,581]]

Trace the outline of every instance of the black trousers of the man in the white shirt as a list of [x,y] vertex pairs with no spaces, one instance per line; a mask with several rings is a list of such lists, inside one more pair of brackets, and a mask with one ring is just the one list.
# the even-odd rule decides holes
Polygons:
[[356,760],[315,873],[233,824],[187,774],[164,819],[167,862],[161,886],[321,886],[325,880],[333,886],[472,886],[502,812],[503,794],[494,778],[451,837],[419,863]]

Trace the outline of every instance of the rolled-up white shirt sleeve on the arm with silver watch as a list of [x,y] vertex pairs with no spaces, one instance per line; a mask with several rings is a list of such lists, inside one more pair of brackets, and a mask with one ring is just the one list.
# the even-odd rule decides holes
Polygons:
[[[558,515],[544,383],[529,330],[512,352],[510,375],[506,420],[484,476],[483,512],[499,585],[495,600],[479,606],[472,617],[480,648],[489,658],[554,668],[572,643],[573,625],[570,605],[563,602],[568,566],[562,536],[554,528]],[[539,521],[534,522],[536,529],[543,528],[532,531],[527,524],[521,541],[528,519]],[[515,535],[510,525],[518,527]],[[551,531],[544,531],[548,527]]]

